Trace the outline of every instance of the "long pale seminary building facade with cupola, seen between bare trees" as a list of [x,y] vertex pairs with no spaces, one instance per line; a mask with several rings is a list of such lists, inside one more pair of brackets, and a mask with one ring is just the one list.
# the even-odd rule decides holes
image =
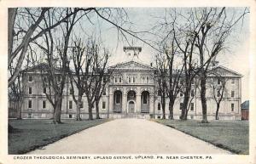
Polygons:
[[[102,118],[161,118],[160,96],[156,82],[155,68],[152,65],[143,64],[138,58],[141,48],[124,48],[126,61],[113,65],[114,68],[110,82],[100,100],[100,116]],[[235,71],[219,66],[216,71],[222,73],[227,79],[224,99],[220,104],[220,120],[241,119],[241,75]],[[44,94],[45,88],[41,83],[41,77],[36,67],[24,73],[23,82],[26,83],[26,96],[22,105],[21,116],[23,118],[50,118],[52,106]],[[218,86],[218,80],[211,76],[212,82]],[[210,82],[208,82],[210,83]],[[207,113],[208,119],[215,118],[216,102],[212,97],[212,87],[207,85]],[[62,118],[74,118],[76,105],[70,94],[70,84],[64,88],[62,98]],[[193,90],[193,92],[192,92]],[[194,99],[191,100],[188,119],[201,119],[201,99],[199,90],[192,85],[191,92]],[[74,89],[76,93],[77,90]],[[174,105],[174,118],[178,119],[181,113],[183,94],[179,93]],[[82,119],[88,118],[88,104],[85,96],[81,106]],[[166,98],[166,118],[169,116],[169,100]],[[96,110],[93,110],[95,115]]]

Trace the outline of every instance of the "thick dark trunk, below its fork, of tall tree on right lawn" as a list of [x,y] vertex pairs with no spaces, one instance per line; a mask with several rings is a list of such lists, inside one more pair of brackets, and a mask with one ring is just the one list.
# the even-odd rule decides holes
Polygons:
[[207,98],[206,98],[206,87],[207,78],[201,76],[201,110],[202,110],[202,123],[207,123]]

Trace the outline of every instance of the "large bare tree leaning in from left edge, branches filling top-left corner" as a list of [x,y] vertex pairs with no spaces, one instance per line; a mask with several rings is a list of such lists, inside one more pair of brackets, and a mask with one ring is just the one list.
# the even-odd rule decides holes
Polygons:
[[[31,42],[38,40],[51,29],[61,25],[73,14],[79,11],[89,12],[93,8],[75,8],[73,12],[63,16],[66,8],[9,8],[8,18],[8,65],[10,66],[15,59],[15,71],[9,76],[9,86],[15,82],[26,52]],[[54,15],[55,19],[52,19]],[[47,27],[43,20],[51,20],[51,25]]]

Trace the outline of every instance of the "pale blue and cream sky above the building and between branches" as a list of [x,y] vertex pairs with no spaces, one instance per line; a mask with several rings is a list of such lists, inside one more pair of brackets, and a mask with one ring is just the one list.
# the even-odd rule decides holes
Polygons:
[[[115,9],[113,8],[113,15],[115,14]],[[187,8],[179,8],[186,10]],[[230,9],[229,16],[236,16],[233,11],[240,13],[243,8],[228,8]],[[125,8],[125,12],[132,24],[125,23],[122,25],[125,29],[131,29],[132,31],[148,31],[157,21],[161,20],[165,15],[166,8]],[[83,20],[81,26],[83,31],[79,30],[79,36],[86,38],[91,35],[99,36],[101,34],[101,41],[105,47],[108,47],[113,56],[111,58],[110,64],[114,65],[119,62],[125,61],[125,53],[123,52],[123,47],[128,46],[124,37],[121,37],[120,31],[118,31],[113,25],[109,24],[107,21],[99,19],[96,14],[89,15],[90,21],[88,19]],[[237,25],[236,31],[230,36],[228,51],[220,54],[218,56],[219,65],[224,65],[233,71],[239,72],[243,77],[241,79],[241,101],[249,99],[249,18],[250,15],[247,14],[243,21]],[[126,17],[125,17],[126,19]],[[113,20],[115,22],[115,20]],[[138,34],[143,40],[153,40],[154,37],[148,33]],[[157,52],[154,48],[151,48],[144,42],[138,41],[135,37],[126,35],[128,41],[133,44],[133,46],[142,47],[142,52],[139,54],[139,58],[143,63],[150,64],[154,62],[154,55]]]

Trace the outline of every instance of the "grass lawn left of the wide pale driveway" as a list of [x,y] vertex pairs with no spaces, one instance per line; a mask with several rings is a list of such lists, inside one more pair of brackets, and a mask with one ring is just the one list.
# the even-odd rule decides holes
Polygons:
[[51,120],[9,120],[9,124],[15,128],[8,136],[9,154],[25,154],[108,120],[81,122],[62,120],[62,122],[63,124],[53,124]]

